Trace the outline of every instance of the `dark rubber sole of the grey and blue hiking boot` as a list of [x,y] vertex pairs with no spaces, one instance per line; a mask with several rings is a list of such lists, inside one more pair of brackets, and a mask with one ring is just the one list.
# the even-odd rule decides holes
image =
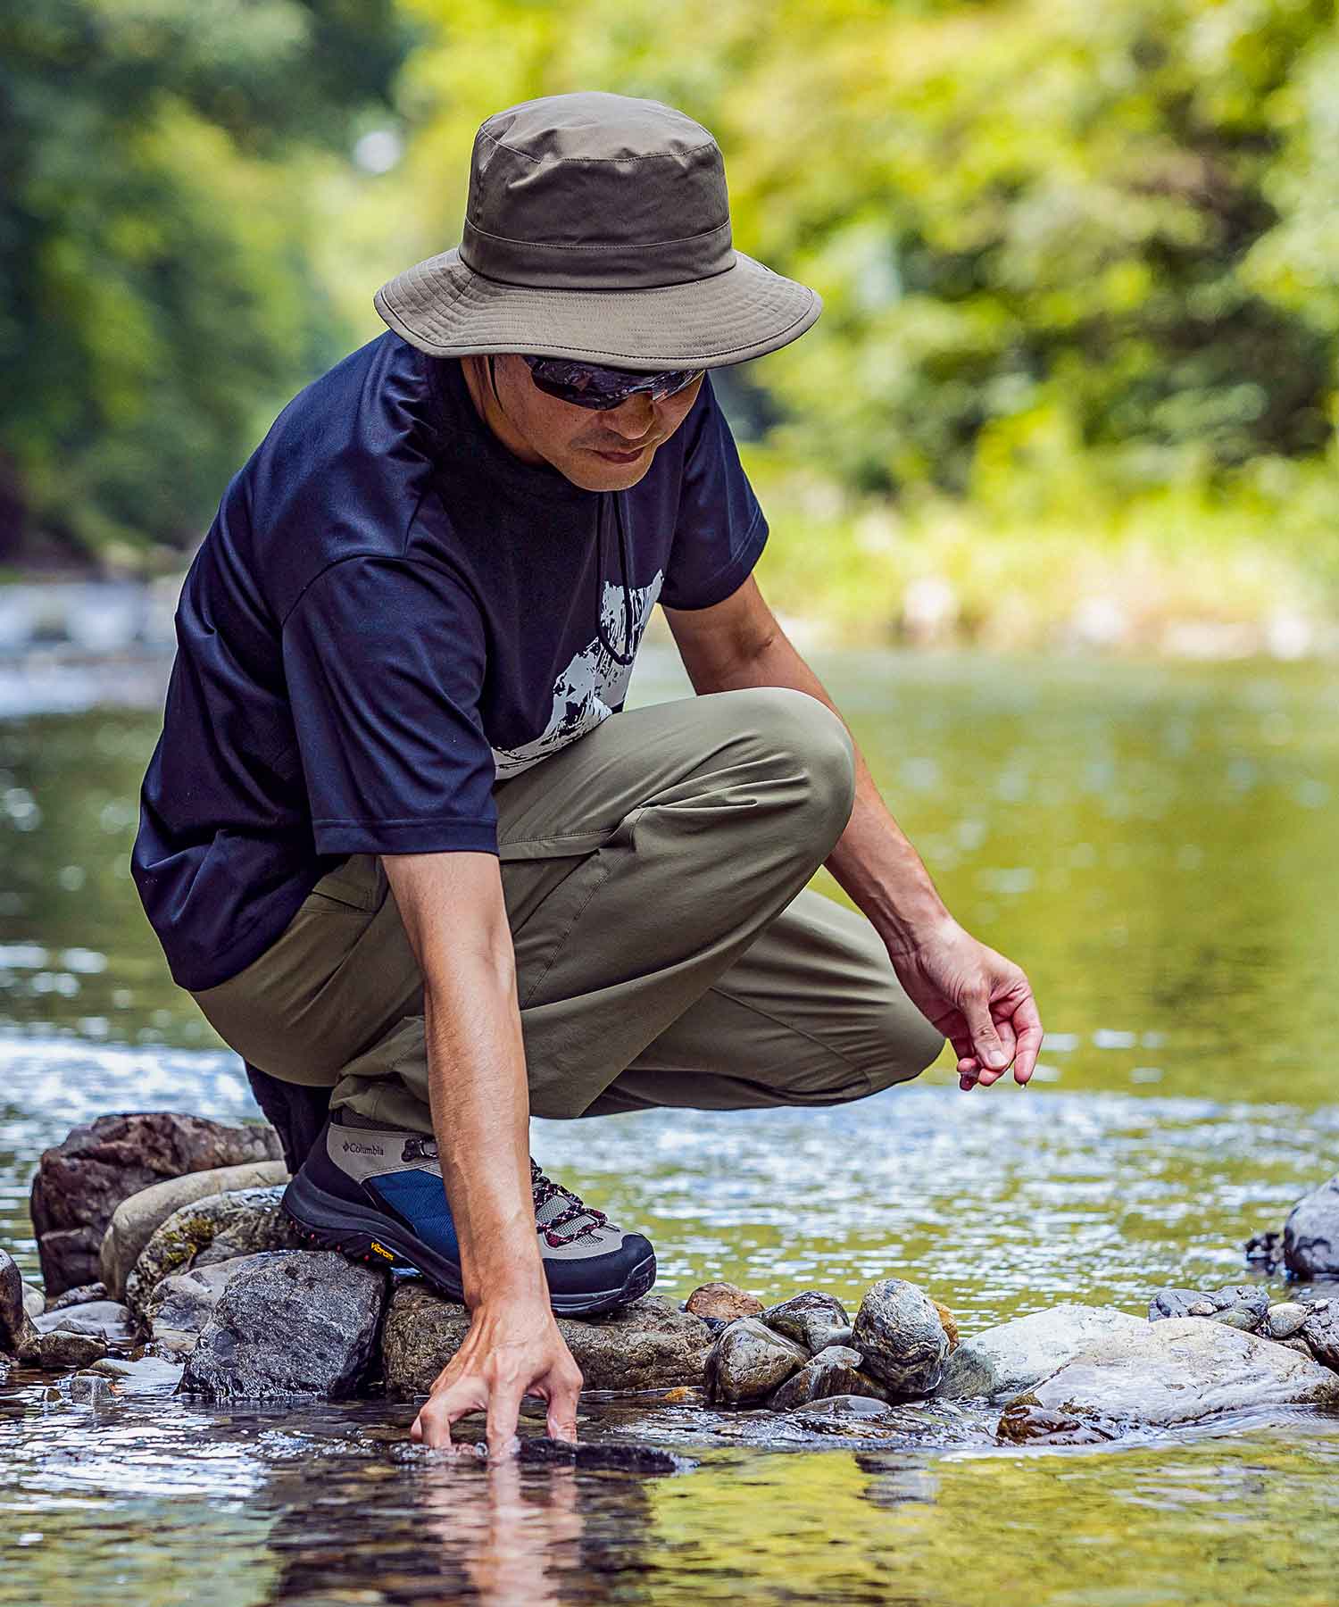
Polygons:
[[[452,1300],[465,1302],[460,1268],[402,1226],[394,1216],[350,1200],[336,1199],[317,1188],[301,1172],[283,1192],[283,1212],[313,1247],[338,1250],[350,1261],[368,1266],[403,1266],[421,1273],[436,1289]],[[547,1268],[545,1268],[547,1276]],[[654,1252],[627,1274],[617,1289],[590,1289],[580,1294],[548,1292],[548,1300],[559,1316],[582,1316],[592,1311],[609,1311],[629,1305],[656,1282]]]

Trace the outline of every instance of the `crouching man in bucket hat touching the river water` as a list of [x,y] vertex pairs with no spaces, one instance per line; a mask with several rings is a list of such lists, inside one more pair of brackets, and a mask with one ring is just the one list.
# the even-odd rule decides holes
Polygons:
[[[733,249],[712,137],[619,95],[498,112],[461,246],[376,307],[186,575],[133,874],[276,1114],[289,1215],[469,1305],[415,1437],[487,1408],[498,1453],[527,1392],[575,1435],[553,1313],[656,1270],[529,1159],[530,1112],[858,1099],[945,1033],[963,1086],[1026,1083],[1042,1027],[751,579],[707,371],[820,304]],[[622,712],[656,601],[699,696]]]

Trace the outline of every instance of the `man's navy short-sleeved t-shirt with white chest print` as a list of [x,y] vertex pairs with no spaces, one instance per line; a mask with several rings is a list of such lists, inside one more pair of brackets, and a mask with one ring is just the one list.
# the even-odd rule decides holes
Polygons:
[[177,606],[130,869],[199,992],[350,853],[497,852],[493,786],[627,694],[653,604],[707,607],[767,522],[710,374],[625,492],[516,458],[394,331],[233,476]]

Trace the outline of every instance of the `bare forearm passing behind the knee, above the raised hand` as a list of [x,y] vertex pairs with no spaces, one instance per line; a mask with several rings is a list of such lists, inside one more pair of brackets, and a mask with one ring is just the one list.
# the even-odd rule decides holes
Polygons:
[[[727,691],[736,686],[794,686],[825,702],[842,718],[823,683],[780,628],[755,654],[736,660],[720,677],[719,686],[699,685],[698,691]],[[889,948],[908,948],[921,932],[950,916],[921,857],[879,797],[854,736],[852,742],[855,804],[826,866]]]

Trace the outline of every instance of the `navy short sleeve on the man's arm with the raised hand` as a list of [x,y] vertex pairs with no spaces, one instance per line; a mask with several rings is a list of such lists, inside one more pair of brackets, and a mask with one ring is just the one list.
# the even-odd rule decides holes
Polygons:
[[678,519],[661,603],[710,607],[747,579],[767,542],[767,519],[739,463],[710,373],[683,429],[693,434],[685,445]]

